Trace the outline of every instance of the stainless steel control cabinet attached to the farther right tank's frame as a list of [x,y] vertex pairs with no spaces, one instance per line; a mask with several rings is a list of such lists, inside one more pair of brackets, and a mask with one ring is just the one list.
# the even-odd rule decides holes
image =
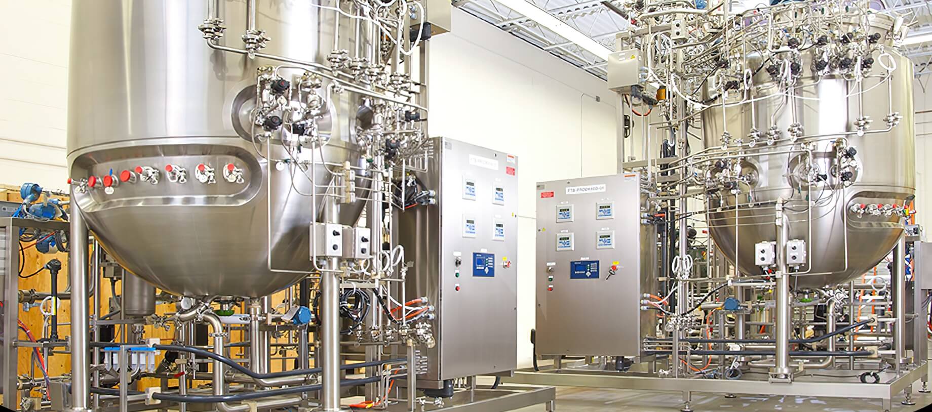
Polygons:
[[652,333],[656,235],[641,224],[640,176],[537,185],[537,352],[637,356]]

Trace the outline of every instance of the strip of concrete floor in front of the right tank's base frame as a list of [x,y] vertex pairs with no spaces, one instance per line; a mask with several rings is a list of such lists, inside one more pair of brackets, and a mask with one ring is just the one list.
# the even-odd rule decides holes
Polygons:
[[[912,412],[932,405],[932,393],[913,391],[916,405],[904,406],[894,399],[894,412]],[[854,395],[854,393],[853,393]],[[586,388],[557,388],[556,410],[559,412],[678,412],[682,395],[660,391],[624,391]],[[696,412],[757,412],[757,411],[825,411],[825,412],[877,412],[881,403],[871,399],[815,398],[808,396],[754,396],[739,395],[727,399],[722,395],[696,393],[692,395],[692,409]],[[519,412],[540,412],[542,405],[518,409]]]

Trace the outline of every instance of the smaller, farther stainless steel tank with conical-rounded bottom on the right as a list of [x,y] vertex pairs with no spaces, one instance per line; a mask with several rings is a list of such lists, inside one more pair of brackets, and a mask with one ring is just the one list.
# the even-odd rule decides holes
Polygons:
[[[888,38],[892,19],[883,15],[872,19],[871,33]],[[788,104],[783,96],[772,96],[728,107],[724,116],[720,106],[703,113],[706,147],[720,146],[726,130],[747,142],[747,133],[755,126],[766,134],[775,124],[786,139],[790,125],[799,122],[804,135],[819,135],[811,155],[792,152],[787,145],[769,146],[761,140],[744,151],[747,158],[733,160],[733,167],[748,179],[738,185],[738,194],[721,190],[706,198],[712,239],[731,262],[737,261],[742,273],[761,273],[754,246],[776,240],[777,199],[787,201],[789,239],[805,240],[808,249],[807,264],[800,267],[802,274],[790,281],[794,287],[846,282],[877,265],[897,243],[903,231],[901,213],[856,212],[877,205],[883,206],[878,209],[901,208],[915,191],[912,63],[892,48],[885,51],[891,58],[884,58],[884,63],[896,64],[889,85],[878,85],[885,69],[877,62],[870,72],[873,76],[865,78],[862,87],[837,75],[819,78],[813,73],[813,51],[802,51],[803,73],[797,89],[800,98],[794,104]],[[749,58],[753,61],[753,56]],[[756,67],[760,64],[757,62]],[[751,99],[776,90],[765,70],[754,76],[754,84]],[[728,102],[740,100],[740,96],[733,96]],[[891,112],[904,118],[884,131],[888,129],[884,117]],[[856,130],[854,124],[861,114],[872,119],[864,134],[851,131]],[[842,145],[838,144],[840,139]],[[850,185],[837,177],[840,171],[832,170],[837,167],[842,146],[854,146],[857,151],[851,158],[857,166],[848,170],[854,182]],[[805,166],[806,156],[816,159],[816,170]],[[810,172],[827,175],[828,179],[810,187],[804,178]],[[811,207],[807,206],[810,201]]]

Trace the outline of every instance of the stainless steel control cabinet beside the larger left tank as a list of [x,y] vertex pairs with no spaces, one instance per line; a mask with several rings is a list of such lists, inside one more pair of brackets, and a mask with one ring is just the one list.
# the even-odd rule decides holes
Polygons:
[[397,216],[409,299],[437,307],[427,374],[418,386],[514,370],[517,364],[518,160],[451,139],[434,139],[427,172],[415,175],[437,204]]

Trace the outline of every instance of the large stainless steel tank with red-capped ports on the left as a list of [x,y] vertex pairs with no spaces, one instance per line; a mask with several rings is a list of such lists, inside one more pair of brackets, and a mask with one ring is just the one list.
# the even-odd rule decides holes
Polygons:
[[[243,49],[245,2],[74,2],[69,172],[95,184],[74,201],[106,251],[159,288],[268,295],[311,269],[308,226],[322,211],[320,195],[333,166],[319,164],[302,175],[294,162],[279,161],[288,158],[279,142],[269,148],[251,140],[257,68],[280,63],[209,48],[198,30],[208,3],[217,5],[227,27],[219,44]],[[326,62],[335,46],[335,13],[310,1],[257,3],[255,26],[271,38],[262,53]],[[367,52],[368,42],[355,41],[368,38],[365,25],[341,20],[337,46]],[[327,84],[324,79],[323,89]],[[356,130],[366,126],[357,121],[369,113],[364,105],[351,92],[327,103],[319,124],[331,139],[314,149],[318,160],[365,167],[355,142]],[[309,151],[302,156],[309,158]],[[199,165],[214,170],[215,183],[199,182]],[[137,171],[143,168],[159,172],[157,184],[142,181]],[[180,168],[186,182],[171,182]],[[241,179],[227,181],[226,168]],[[107,176],[129,179],[104,190]],[[363,190],[364,182],[358,186]],[[339,223],[358,219],[358,203],[341,206]]]

